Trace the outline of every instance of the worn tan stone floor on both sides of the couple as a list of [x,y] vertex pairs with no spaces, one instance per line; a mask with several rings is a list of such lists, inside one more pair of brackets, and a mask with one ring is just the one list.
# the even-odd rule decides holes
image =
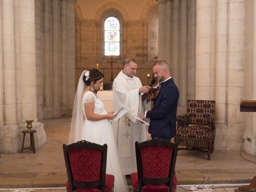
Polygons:
[[[65,186],[67,176],[62,145],[68,143],[70,121],[71,118],[40,121],[44,123],[47,143],[35,154],[30,150],[24,150],[22,154],[0,154],[0,188]],[[256,156],[245,152],[242,156],[256,162]],[[176,161],[178,184],[242,185],[250,183],[256,175],[255,164],[242,159],[239,149],[214,151],[211,160],[206,157],[206,154],[196,151],[179,151]],[[229,191],[229,188],[224,191]]]

